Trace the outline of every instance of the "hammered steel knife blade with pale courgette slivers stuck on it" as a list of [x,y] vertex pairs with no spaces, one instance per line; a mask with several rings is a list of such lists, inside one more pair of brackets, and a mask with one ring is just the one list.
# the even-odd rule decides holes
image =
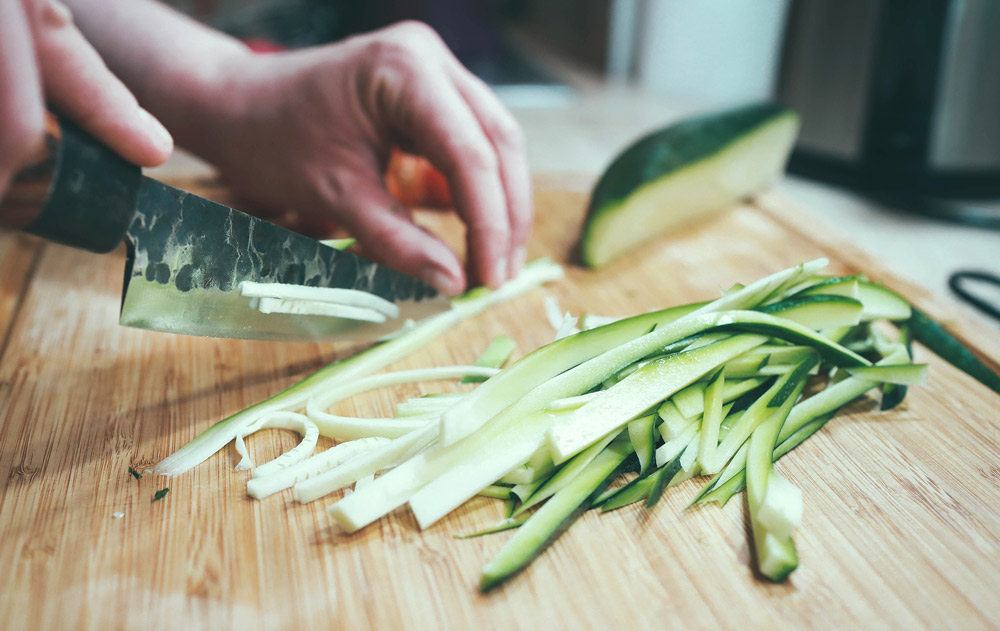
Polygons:
[[[128,229],[125,326],[240,339],[371,340],[449,307],[420,280],[221,204],[143,178]],[[395,303],[385,323],[262,314],[239,283],[360,289]]]

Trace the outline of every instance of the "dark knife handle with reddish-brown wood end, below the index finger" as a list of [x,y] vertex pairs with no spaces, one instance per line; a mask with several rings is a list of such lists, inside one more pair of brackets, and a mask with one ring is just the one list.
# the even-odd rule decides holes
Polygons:
[[110,252],[132,221],[141,181],[139,167],[47,114],[44,143],[0,199],[0,225]]

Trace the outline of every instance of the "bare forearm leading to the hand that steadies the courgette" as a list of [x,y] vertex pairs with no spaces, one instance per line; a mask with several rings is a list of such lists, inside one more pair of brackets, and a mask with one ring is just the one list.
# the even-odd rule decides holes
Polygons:
[[[74,21],[139,102],[195,153],[244,104],[228,93],[230,68],[252,53],[156,0],[64,0]],[[210,155],[207,155],[211,159]]]

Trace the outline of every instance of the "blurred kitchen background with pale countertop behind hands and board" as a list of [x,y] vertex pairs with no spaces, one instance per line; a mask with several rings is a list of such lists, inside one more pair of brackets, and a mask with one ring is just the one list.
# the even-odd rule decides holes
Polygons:
[[[1000,272],[995,0],[169,0],[260,51],[434,27],[521,122],[535,172],[591,176],[682,116],[774,99],[782,186],[945,293]],[[998,301],[1000,302],[1000,301]]]

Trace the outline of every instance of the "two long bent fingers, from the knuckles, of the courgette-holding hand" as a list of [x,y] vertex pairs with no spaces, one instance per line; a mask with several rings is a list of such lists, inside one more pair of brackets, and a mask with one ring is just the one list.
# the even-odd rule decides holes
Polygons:
[[520,267],[531,221],[517,126],[429,28],[407,24],[381,38],[372,50],[375,111],[448,178],[471,273],[497,287]]

